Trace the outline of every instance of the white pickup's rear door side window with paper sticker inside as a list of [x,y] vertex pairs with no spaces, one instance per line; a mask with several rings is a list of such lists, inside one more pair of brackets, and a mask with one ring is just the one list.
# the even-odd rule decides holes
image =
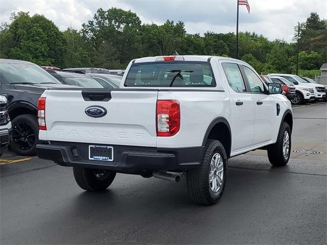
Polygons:
[[240,68],[234,63],[222,63],[229,86],[235,92],[246,92]]

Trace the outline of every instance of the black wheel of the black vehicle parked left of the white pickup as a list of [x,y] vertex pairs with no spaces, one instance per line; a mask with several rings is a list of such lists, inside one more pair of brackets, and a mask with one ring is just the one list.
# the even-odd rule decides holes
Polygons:
[[12,120],[10,148],[21,156],[34,156],[39,141],[39,130],[35,115],[23,114]]

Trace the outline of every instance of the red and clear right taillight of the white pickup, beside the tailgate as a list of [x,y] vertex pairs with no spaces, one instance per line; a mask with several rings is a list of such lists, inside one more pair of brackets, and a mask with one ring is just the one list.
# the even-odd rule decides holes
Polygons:
[[157,100],[157,136],[173,136],[180,127],[180,107],[178,101]]

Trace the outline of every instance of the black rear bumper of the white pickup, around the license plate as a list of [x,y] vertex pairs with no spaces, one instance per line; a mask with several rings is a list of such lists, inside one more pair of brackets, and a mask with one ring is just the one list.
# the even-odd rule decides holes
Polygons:
[[61,166],[97,168],[118,173],[146,176],[156,171],[181,171],[200,164],[204,146],[159,149],[143,146],[113,146],[112,162],[88,160],[88,145],[92,143],[52,142],[36,145],[39,158],[52,160]]

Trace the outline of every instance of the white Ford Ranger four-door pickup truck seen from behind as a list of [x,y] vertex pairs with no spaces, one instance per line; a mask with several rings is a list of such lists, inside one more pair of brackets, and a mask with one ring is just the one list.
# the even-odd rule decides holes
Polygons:
[[85,190],[116,173],[186,182],[194,202],[216,203],[227,160],[268,151],[287,164],[293,116],[280,84],[236,59],[162,56],[131,61],[119,89],[49,88],[38,101],[37,155],[73,166]]

